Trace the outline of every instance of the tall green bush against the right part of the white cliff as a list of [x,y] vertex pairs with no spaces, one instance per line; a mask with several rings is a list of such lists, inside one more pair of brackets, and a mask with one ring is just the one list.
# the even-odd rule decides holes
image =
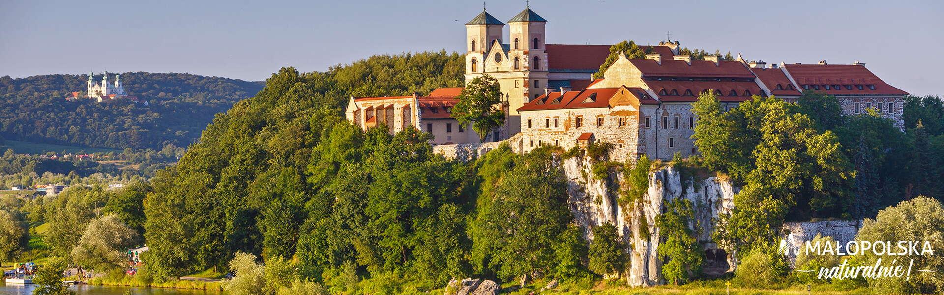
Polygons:
[[659,227],[662,244],[659,245],[659,258],[666,261],[662,265],[662,275],[674,285],[682,285],[698,277],[704,250],[696,240],[690,227],[699,228],[695,220],[692,202],[687,199],[669,200],[666,212],[655,219]]

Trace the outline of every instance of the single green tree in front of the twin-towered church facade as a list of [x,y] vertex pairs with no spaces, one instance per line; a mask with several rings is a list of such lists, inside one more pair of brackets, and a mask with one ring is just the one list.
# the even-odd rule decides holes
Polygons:
[[459,102],[452,107],[452,117],[461,126],[471,123],[481,141],[485,141],[488,132],[504,125],[505,113],[497,108],[501,104],[501,89],[496,78],[488,75],[473,78],[456,99]]

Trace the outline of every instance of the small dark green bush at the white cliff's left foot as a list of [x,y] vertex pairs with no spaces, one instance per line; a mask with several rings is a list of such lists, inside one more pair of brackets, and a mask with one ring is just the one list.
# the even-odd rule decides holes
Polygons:
[[629,255],[626,253],[626,243],[616,232],[612,223],[606,223],[593,228],[593,240],[590,242],[587,257],[587,269],[599,275],[613,275],[619,277],[629,264]]

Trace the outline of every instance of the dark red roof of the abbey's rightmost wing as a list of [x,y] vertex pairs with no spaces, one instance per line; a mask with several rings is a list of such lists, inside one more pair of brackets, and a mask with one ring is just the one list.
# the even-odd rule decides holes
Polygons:
[[[815,89],[812,85],[816,85],[819,88],[816,91],[827,95],[908,95],[872,74],[865,65],[785,64],[784,68],[802,89],[805,89],[804,85]],[[826,89],[827,85],[829,89]],[[860,85],[862,90],[859,90]]]

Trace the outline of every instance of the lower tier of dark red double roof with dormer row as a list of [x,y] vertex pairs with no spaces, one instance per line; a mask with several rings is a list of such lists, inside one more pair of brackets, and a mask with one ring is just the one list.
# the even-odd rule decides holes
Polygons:
[[[715,90],[717,100],[741,102],[750,100],[752,95],[764,95],[757,83],[748,80],[739,81],[690,81],[690,80],[645,80],[646,85],[662,101],[696,101],[702,92]],[[732,93],[733,92],[733,93]]]

